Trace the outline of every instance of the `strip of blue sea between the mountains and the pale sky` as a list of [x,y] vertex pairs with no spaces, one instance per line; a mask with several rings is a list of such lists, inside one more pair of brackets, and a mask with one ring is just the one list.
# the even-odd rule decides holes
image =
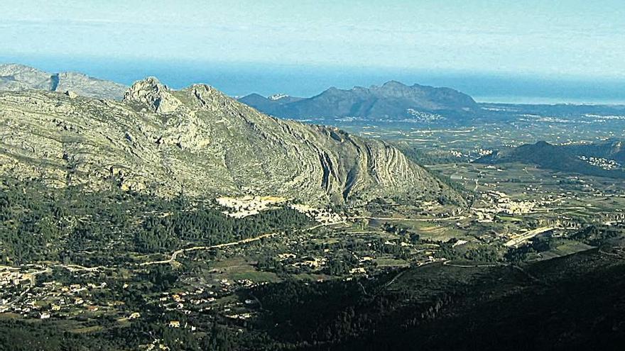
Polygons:
[[21,63],[47,72],[82,72],[132,84],[157,77],[173,89],[210,84],[230,96],[257,93],[315,96],[329,87],[351,89],[396,80],[404,84],[450,87],[478,102],[505,104],[625,104],[625,78],[578,78],[538,74],[492,74],[428,69],[281,65],[250,62],[157,60],[149,57],[2,56],[1,63]]

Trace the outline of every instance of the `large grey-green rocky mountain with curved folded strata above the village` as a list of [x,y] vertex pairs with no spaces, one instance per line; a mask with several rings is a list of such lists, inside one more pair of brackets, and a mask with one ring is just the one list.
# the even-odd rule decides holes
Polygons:
[[280,195],[337,203],[449,192],[396,148],[281,121],[206,85],[148,78],[121,102],[0,93],[0,172],[171,196]]

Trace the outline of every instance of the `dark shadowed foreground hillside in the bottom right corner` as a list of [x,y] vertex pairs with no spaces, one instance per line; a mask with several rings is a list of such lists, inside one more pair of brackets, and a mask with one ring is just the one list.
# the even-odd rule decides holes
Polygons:
[[[308,339],[295,350],[413,350],[413,345],[418,350],[501,350],[501,345],[505,350],[620,350],[625,332],[619,291],[625,286],[617,277],[625,267],[622,256],[613,255],[595,250],[492,268],[431,264],[406,269],[373,296],[356,283],[327,284],[312,293],[285,286],[276,289],[281,295],[274,293],[280,304],[274,296],[272,301],[255,293],[263,306],[281,312],[266,322],[278,325],[268,329],[279,340],[295,333],[331,340],[322,343],[317,336],[320,345]],[[351,293],[349,299],[342,291]],[[293,302],[307,298],[322,306],[305,310]],[[326,312],[324,305],[332,309]],[[324,334],[327,325],[342,334]],[[274,331],[278,328],[286,332]]]

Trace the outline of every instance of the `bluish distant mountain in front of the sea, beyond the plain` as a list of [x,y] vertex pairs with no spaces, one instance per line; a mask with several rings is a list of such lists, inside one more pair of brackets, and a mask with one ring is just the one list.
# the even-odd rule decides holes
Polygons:
[[[239,101],[263,113],[281,118],[362,118],[405,120],[431,118],[442,112],[466,113],[477,109],[471,96],[450,88],[435,88],[400,82],[380,87],[330,88],[317,96],[297,98],[250,94]],[[431,116],[428,116],[431,115]]]

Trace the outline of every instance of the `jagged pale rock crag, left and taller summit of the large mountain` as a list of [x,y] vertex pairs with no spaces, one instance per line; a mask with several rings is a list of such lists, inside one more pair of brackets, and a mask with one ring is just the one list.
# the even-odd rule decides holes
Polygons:
[[156,77],[147,77],[132,84],[132,87],[126,90],[122,101],[137,102],[158,113],[174,112],[182,106],[182,102]]

